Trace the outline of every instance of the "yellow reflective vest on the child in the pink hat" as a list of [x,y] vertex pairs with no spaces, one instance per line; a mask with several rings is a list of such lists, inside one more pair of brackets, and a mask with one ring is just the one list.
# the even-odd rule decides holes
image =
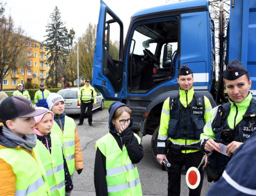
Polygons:
[[55,134],[51,134],[50,136],[52,144],[51,153],[46,149],[44,144],[37,139],[36,147],[34,148],[35,157],[36,159],[39,157],[43,164],[51,195],[65,195],[65,171],[62,143],[59,136]]

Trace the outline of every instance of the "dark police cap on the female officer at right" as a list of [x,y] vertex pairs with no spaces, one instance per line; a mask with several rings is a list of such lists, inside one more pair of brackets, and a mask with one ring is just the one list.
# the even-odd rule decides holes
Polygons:
[[237,78],[240,78],[242,75],[245,75],[248,73],[244,65],[242,65],[241,62],[238,60],[230,60],[228,63],[228,66],[226,67],[226,70],[224,71],[223,77],[226,80],[236,80]]

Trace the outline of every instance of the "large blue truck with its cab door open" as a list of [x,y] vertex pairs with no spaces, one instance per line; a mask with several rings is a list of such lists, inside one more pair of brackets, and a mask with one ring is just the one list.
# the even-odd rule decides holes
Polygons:
[[105,100],[131,108],[133,131],[140,137],[152,135],[154,156],[162,105],[178,92],[181,65],[194,71],[195,91],[215,107],[227,100],[223,70],[229,60],[240,60],[249,70],[256,96],[256,1],[231,0],[226,36],[220,31],[220,62],[215,59],[214,32],[209,1],[184,1],[136,12],[124,41],[122,21],[101,1],[92,84]]

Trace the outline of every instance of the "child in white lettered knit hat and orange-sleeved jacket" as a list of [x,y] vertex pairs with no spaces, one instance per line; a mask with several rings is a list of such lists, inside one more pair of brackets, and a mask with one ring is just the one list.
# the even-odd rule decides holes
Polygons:
[[[80,174],[83,170],[83,155],[80,139],[73,118],[66,116],[64,112],[64,99],[60,94],[51,92],[46,100],[49,110],[54,113],[52,134],[57,134],[64,144],[64,155],[68,165],[68,171],[73,181],[73,173],[76,169]],[[67,194],[66,194],[67,195]]]

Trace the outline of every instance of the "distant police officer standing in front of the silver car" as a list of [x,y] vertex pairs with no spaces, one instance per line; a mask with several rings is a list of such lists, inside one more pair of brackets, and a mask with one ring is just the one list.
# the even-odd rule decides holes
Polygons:
[[89,126],[93,126],[93,105],[96,105],[96,92],[93,86],[90,85],[88,79],[85,80],[85,86],[83,86],[78,94],[78,102],[81,104],[80,120],[77,125],[83,125],[85,119],[85,110],[88,110],[88,123]]

